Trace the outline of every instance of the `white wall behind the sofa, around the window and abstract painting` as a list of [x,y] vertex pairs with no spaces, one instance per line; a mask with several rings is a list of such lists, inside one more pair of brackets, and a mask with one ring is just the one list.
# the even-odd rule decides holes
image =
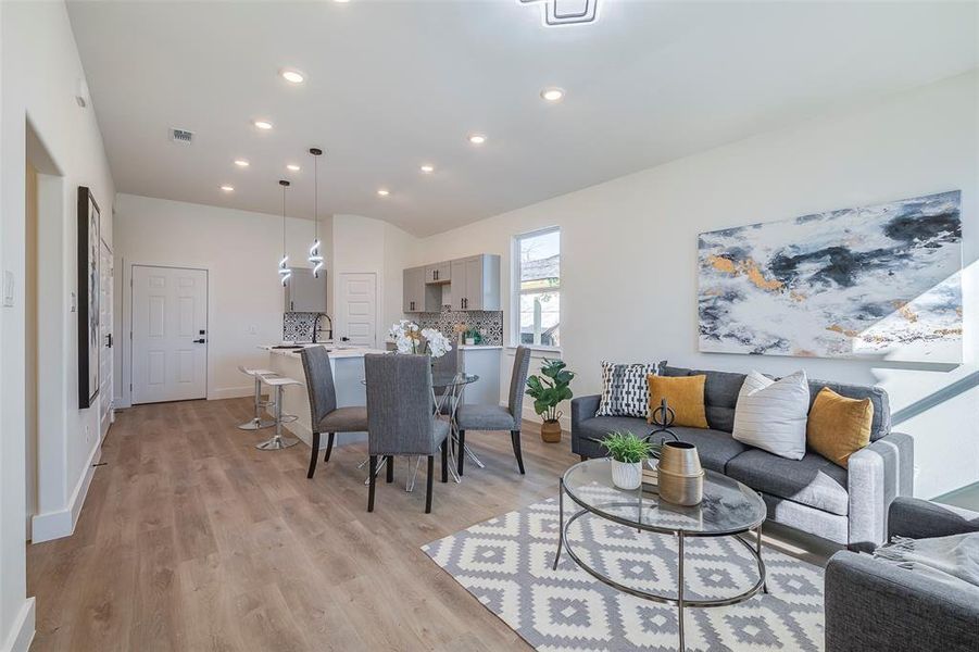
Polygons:
[[[600,388],[602,360],[668,359],[680,366],[774,374],[803,367],[816,378],[879,384],[898,411],[979,369],[977,91],[979,75],[972,73],[760,135],[426,238],[411,263],[499,253],[509,308],[512,236],[560,225],[563,358],[579,374],[577,394]],[[969,339],[962,366],[698,352],[699,233],[950,189],[963,191]],[[510,326],[507,321],[507,338]],[[505,397],[512,358],[504,360]],[[898,426],[916,440],[918,494],[933,497],[979,479],[977,405],[974,387]]]

